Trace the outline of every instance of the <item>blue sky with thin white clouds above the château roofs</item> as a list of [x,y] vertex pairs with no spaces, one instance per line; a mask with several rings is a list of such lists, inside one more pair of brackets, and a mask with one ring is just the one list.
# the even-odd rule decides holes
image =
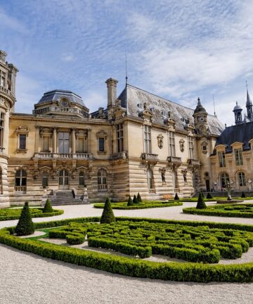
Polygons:
[[[44,91],[69,89],[106,106],[105,80],[203,106],[233,124],[235,101],[253,99],[253,1],[0,0],[0,49],[18,72],[15,110],[32,113]],[[245,111],[244,111],[245,113]]]

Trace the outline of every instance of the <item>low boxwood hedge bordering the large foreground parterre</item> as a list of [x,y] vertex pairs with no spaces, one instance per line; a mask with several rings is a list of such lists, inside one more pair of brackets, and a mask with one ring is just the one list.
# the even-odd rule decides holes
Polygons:
[[[186,223],[188,226],[208,226],[221,229],[238,229],[240,231],[253,232],[253,225],[223,224],[212,222],[188,222],[176,220],[143,219],[117,217],[117,221],[131,220],[131,222],[163,222],[163,223]],[[99,222],[99,217],[86,217],[53,222],[35,223],[36,229],[46,227],[59,227],[70,224],[70,222]],[[14,227],[0,230],[0,242],[22,251],[35,253],[44,258],[70,262],[75,265],[93,267],[115,274],[124,274],[131,277],[143,277],[150,279],[163,279],[171,281],[226,281],[226,282],[252,282],[253,262],[235,265],[209,265],[193,262],[150,262],[125,258],[117,255],[84,251],[78,248],[67,248],[52,243],[44,243],[30,239],[20,239],[11,235]]]

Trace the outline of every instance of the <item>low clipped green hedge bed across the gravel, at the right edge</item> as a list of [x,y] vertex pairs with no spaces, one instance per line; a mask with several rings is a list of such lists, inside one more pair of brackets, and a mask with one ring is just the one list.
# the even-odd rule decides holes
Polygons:
[[212,205],[206,209],[184,208],[183,213],[223,217],[253,217],[253,204]]

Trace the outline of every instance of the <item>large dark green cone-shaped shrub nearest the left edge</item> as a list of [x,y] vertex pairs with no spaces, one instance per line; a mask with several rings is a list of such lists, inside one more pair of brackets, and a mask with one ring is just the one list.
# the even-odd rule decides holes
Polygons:
[[34,223],[32,222],[32,216],[30,213],[28,202],[25,202],[22,208],[20,219],[15,227],[15,233],[18,236],[34,234]]

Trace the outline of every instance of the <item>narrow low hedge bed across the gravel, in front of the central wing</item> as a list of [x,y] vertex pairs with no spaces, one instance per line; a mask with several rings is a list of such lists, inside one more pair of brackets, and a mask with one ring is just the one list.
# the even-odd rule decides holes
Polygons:
[[[93,205],[94,208],[104,208],[104,203],[96,203]],[[146,208],[162,208],[162,207],[175,207],[177,205],[183,205],[179,201],[142,201],[134,205],[128,206],[126,202],[122,203],[111,203],[112,209],[119,210],[132,210],[132,209],[146,209]]]

